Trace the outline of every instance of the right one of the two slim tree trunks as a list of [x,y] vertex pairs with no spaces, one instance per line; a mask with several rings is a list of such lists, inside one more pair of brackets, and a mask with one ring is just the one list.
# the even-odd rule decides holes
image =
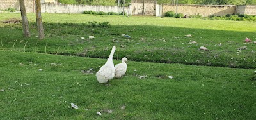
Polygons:
[[36,0],[36,23],[38,28],[39,39],[44,39],[44,27],[41,16],[41,1]]

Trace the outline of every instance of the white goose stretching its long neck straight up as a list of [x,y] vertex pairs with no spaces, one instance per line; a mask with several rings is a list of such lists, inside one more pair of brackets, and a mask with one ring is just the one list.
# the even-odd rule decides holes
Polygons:
[[105,65],[100,67],[100,70],[96,73],[96,77],[99,83],[107,83],[115,76],[115,67],[113,63],[113,55],[115,53],[115,50],[116,47],[113,46],[107,62],[105,63]]

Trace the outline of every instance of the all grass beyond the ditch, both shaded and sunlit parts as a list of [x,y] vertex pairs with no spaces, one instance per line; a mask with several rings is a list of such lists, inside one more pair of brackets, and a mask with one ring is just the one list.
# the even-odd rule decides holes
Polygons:
[[[3,13],[0,20],[15,17],[20,15]],[[1,23],[1,49],[108,58],[109,48],[115,45],[122,49],[116,53],[118,59],[256,68],[256,22],[83,14],[42,14],[42,18],[44,41],[37,40],[34,14],[28,14],[30,39],[22,37],[21,23]],[[109,22],[111,27],[88,25],[93,21]],[[184,37],[186,34],[193,37]],[[252,43],[244,43],[246,37]],[[209,51],[199,50],[200,46]]]

